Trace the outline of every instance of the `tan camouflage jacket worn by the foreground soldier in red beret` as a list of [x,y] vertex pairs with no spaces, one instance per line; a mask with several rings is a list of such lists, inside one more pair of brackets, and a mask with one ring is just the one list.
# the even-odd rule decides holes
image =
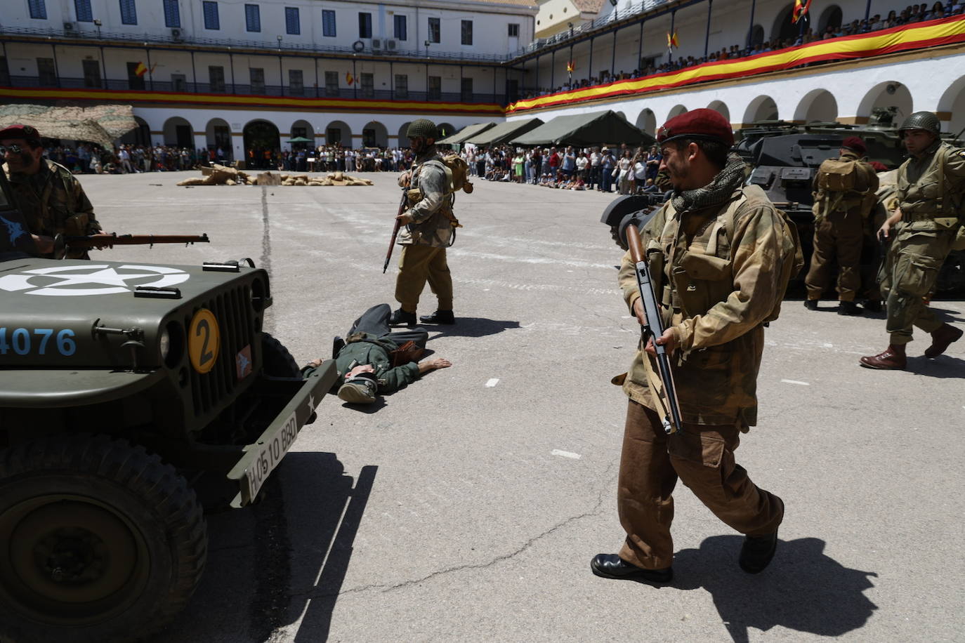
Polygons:
[[[729,211],[734,229],[715,225]],[[665,328],[673,328],[679,342],[674,379],[684,422],[745,430],[757,423],[763,322],[781,295],[780,218],[752,185],[735,190],[719,208],[677,213],[667,202],[641,234],[654,279],[660,279],[654,290]],[[619,281],[631,314],[640,298],[633,268],[626,253]],[[655,410],[641,349],[623,390]]]

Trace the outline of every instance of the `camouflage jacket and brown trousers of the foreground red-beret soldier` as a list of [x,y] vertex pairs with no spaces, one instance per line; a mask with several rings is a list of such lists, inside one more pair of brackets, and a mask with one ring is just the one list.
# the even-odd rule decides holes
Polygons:
[[[763,322],[780,300],[786,238],[763,191],[739,187],[742,168],[729,169],[738,187],[722,203],[676,212],[668,202],[641,235],[665,327],[679,343],[673,365],[683,426],[664,433],[644,360],[656,365],[641,346],[629,373],[615,379],[630,398],[620,456],[620,558],[637,567],[671,565],[678,478],[741,533],[773,533],[784,518],[781,499],[759,489],[733,451],[757,422]],[[632,314],[640,295],[629,253],[619,279]]]

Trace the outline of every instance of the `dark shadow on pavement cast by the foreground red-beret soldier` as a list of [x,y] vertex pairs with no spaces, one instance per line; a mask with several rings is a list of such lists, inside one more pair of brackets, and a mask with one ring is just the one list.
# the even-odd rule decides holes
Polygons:
[[714,536],[674,558],[674,586],[707,590],[734,643],[746,642],[751,628],[840,636],[863,627],[877,609],[863,594],[877,574],[844,567],[825,555],[824,541],[781,541],[770,567],[751,576],[737,567],[743,540]]

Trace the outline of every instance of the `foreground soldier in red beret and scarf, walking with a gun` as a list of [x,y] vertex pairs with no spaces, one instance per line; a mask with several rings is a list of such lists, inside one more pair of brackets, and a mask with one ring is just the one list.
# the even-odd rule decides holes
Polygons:
[[[658,131],[675,188],[641,232],[663,316],[656,338],[673,356],[682,426],[665,433],[659,396],[650,390],[653,344],[641,346],[629,373],[614,378],[629,397],[617,496],[626,539],[619,553],[591,562],[596,576],[667,583],[673,577],[671,522],[679,478],[721,521],[746,535],[739,565],[761,572],[778,545],[784,502],[759,489],[733,452],[757,423],[757,374],[764,323],[774,319],[791,269],[803,259],[795,228],[756,185],[744,185],[744,164],[731,123],[697,109]],[[630,254],[620,267],[623,299],[645,323]],[[646,351],[646,353],[645,353]]]

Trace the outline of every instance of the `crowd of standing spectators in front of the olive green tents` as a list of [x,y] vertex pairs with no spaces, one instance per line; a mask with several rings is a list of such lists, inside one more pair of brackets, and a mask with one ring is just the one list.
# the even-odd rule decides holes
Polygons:
[[621,195],[658,192],[662,156],[657,147],[466,146],[461,152],[470,174],[490,181],[531,183],[567,190]]

